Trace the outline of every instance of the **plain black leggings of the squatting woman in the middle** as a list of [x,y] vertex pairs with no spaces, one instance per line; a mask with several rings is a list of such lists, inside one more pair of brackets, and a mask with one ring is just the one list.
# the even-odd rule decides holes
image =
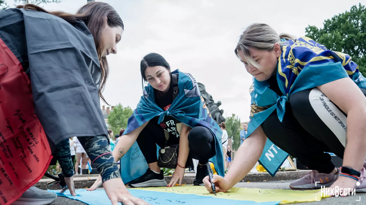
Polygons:
[[[147,164],[157,162],[156,144],[159,147],[166,147],[179,144],[179,137],[169,137],[165,139],[164,130],[154,121],[150,121],[137,137],[139,145]],[[189,156],[197,159],[200,164],[206,164],[208,160],[216,155],[215,139],[209,129],[205,127],[195,127],[188,134]]]

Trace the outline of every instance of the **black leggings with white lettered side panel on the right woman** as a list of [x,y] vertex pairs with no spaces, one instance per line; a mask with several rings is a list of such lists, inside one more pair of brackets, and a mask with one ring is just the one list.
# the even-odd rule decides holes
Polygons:
[[343,159],[347,115],[317,88],[295,92],[289,101],[283,122],[273,111],[261,125],[264,133],[309,169],[329,174],[335,165],[324,152]]

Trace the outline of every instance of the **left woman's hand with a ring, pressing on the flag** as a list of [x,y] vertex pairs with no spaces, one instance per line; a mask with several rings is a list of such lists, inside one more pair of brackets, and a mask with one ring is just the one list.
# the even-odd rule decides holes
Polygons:
[[112,205],[118,205],[118,202],[124,205],[148,205],[142,199],[132,196],[121,178],[108,179],[103,183],[103,187]]

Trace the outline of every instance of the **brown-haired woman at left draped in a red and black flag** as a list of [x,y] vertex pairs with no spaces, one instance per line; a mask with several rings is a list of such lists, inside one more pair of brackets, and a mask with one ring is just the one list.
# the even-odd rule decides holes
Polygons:
[[124,28],[115,9],[93,2],[68,14],[26,4],[0,11],[0,22],[0,110],[9,110],[0,113],[0,143],[9,145],[11,154],[2,160],[12,164],[3,171],[11,186],[0,185],[7,187],[1,189],[5,204],[19,197],[16,204],[55,200],[31,187],[47,170],[51,153],[63,161],[65,188],[75,195],[68,143],[73,136],[101,172],[113,205],[145,203],[120,179],[100,110],[106,56],[117,52]]

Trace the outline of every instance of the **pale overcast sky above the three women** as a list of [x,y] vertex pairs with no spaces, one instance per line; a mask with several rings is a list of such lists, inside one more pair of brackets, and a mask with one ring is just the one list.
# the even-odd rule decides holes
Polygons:
[[[140,61],[161,54],[171,65],[205,84],[224,117],[249,120],[252,76],[234,49],[243,28],[269,24],[277,33],[305,35],[305,27],[322,27],[325,19],[366,0],[102,0],[121,16],[125,28],[117,54],[110,54],[104,97],[111,105],[136,108],[142,94]],[[11,0],[8,1],[11,3]],[[86,0],[62,0],[47,10],[75,13]],[[101,103],[103,105],[103,103]]]

